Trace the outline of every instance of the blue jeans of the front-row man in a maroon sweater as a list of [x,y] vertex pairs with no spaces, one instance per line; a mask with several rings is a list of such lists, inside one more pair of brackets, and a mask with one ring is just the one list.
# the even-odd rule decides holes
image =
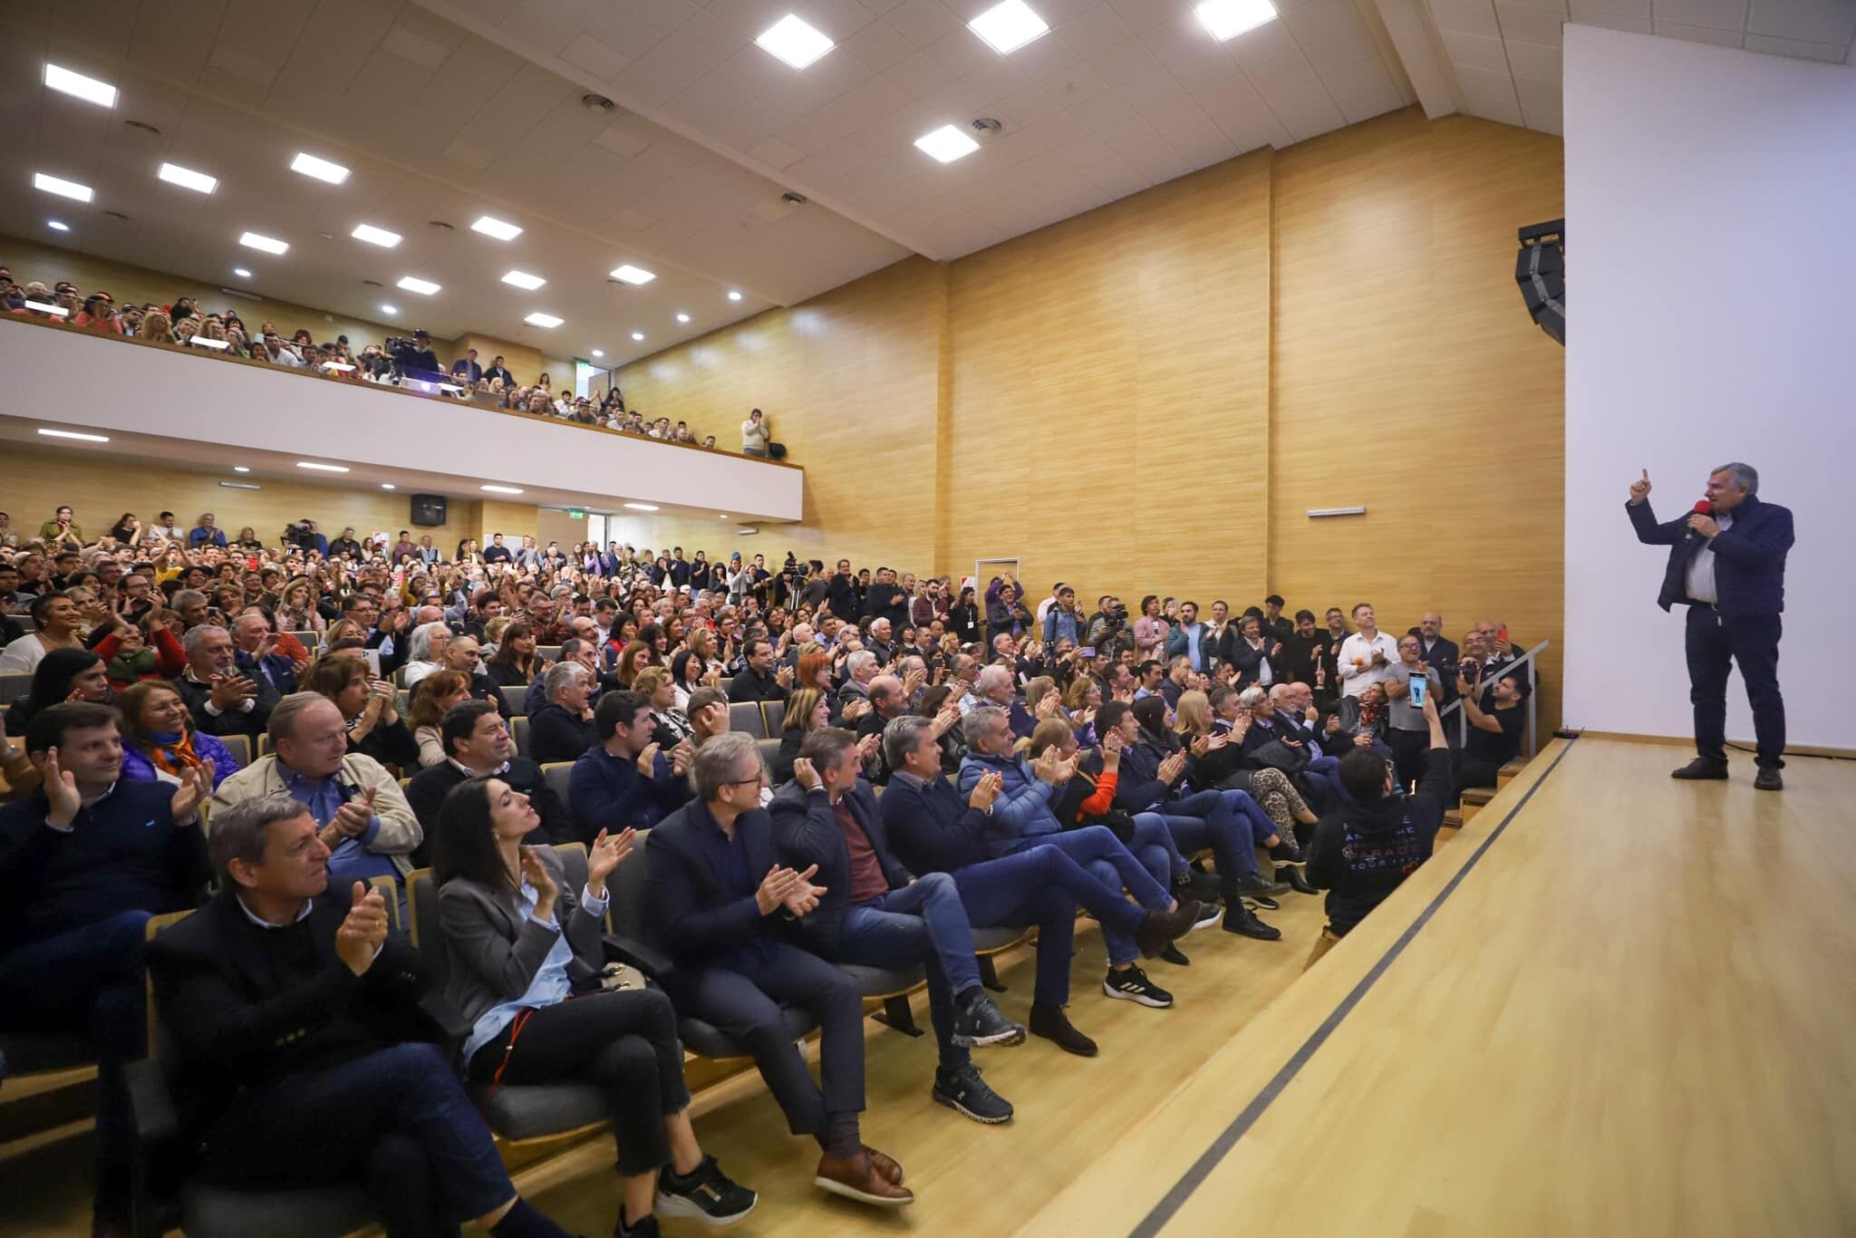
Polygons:
[[954,878],[928,872],[913,885],[846,908],[837,928],[837,960],[865,967],[922,963],[941,1065],[967,1062],[967,1051],[954,1043],[954,995],[980,987],[980,963]]

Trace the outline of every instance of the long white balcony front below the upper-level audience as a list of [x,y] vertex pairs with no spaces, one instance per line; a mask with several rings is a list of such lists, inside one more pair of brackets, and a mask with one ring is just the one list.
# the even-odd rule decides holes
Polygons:
[[0,321],[0,373],[7,395],[0,412],[43,412],[61,423],[260,451],[303,453],[314,445],[334,460],[614,496],[614,505],[620,497],[703,505],[726,499],[728,510],[742,516],[804,514],[802,470],[76,330]]

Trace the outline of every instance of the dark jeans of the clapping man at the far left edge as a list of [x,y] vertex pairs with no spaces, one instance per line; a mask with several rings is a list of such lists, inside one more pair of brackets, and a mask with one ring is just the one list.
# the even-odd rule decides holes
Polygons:
[[0,1028],[72,1032],[97,1045],[97,1210],[128,1210],[135,1121],[122,1067],[147,1052],[147,911],[117,911],[0,958]]

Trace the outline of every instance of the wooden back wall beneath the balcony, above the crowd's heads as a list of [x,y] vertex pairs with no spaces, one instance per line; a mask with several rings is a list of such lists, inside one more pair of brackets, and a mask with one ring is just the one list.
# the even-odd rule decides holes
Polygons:
[[[432,535],[447,553],[460,538],[477,536],[479,505],[473,499],[447,499],[445,523],[436,529],[412,525],[412,496],[406,490],[354,490],[347,483],[304,483],[262,479],[262,490],[230,490],[226,473],[206,473],[169,466],[148,468],[147,460],[117,458],[87,449],[7,447],[0,471],[0,510],[15,529],[37,531],[59,503],[71,505],[85,535],[100,535],[122,512],[135,512],[154,523],[161,510],[174,512],[174,523],[193,527],[200,512],[212,512],[226,536],[251,525],[264,542],[275,544],[284,525],[308,516],[323,533],[336,536],[342,525],[362,535],[384,531],[388,536],[410,529],[414,540]],[[527,509],[529,525],[535,509]]]

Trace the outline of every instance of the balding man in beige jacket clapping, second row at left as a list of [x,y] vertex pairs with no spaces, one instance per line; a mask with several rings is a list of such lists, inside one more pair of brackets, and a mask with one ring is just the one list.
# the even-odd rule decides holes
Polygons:
[[364,752],[349,748],[347,720],[319,692],[295,692],[271,711],[271,752],[219,783],[208,830],[221,809],[284,794],[316,819],[327,865],[342,882],[392,876],[405,883],[423,832],[399,780]]

